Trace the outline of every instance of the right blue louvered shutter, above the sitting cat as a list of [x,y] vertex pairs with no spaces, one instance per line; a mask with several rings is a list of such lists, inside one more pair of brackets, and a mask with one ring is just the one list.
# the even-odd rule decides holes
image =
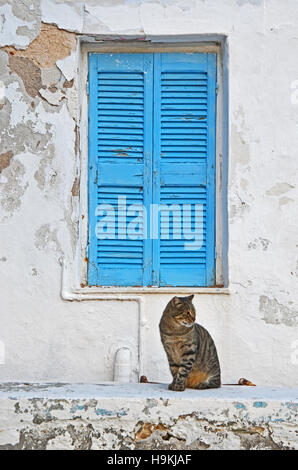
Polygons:
[[[160,286],[210,286],[215,273],[215,86],[216,54],[161,53],[154,57],[154,172],[156,204],[194,204],[201,222],[197,250],[173,237],[179,232],[161,212],[154,240],[153,279]],[[176,216],[179,210],[174,212]],[[185,235],[190,232],[185,225]],[[183,230],[183,226],[182,226]],[[162,238],[162,233],[164,238]],[[177,235],[176,235],[177,236]]]

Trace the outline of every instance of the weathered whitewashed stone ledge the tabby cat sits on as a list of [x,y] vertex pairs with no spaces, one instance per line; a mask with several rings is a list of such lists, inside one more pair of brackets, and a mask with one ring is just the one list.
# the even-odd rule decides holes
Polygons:
[[298,389],[0,384],[0,449],[298,449]]

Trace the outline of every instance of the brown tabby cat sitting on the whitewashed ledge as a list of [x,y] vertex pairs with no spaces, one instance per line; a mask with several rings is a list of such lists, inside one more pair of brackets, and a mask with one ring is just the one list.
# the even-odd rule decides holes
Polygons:
[[173,382],[169,390],[186,387],[218,388],[220,366],[216,347],[208,331],[195,323],[196,311],[189,297],[174,297],[166,306],[159,324]]

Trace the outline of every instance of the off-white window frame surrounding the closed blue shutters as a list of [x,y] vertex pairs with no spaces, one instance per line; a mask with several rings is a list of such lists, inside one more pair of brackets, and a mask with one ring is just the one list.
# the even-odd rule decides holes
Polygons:
[[[79,201],[79,244],[77,259],[71,269],[72,285],[76,291],[111,292],[111,293],[227,293],[227,197],[224,174],[227,172],[227,71],[224,70],[227,55],[223,38],[214,42],[117,42],[103,41],[100,44],[81,42],[80,44],[80,201]],[[105,287],[89,286],[87,280],[87,243],[88,243],[88,61],[89,53],[96,52],[215,52],[217,54],[217,100],[216,100],[216,228],[215,228],[215,285],[210,287]],[[76,266],[75,266],[76,265]],[[80,286],[80,287],[79,287]],[[87,292],[86,291],[86,292]]]

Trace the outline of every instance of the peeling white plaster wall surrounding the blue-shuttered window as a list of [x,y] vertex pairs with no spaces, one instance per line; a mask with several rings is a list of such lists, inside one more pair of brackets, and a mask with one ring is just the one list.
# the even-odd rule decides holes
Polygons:
[[[222,34],[231,294],[196,296],[198,321],[224,382],[298,385],[297,24],[295,0],[0,1],[1,381],[112,380],[123,345],[137,364],[135,303],[60,297],[79,236],[78,38]],[[151,380],[169,377],[158,334],[169,298],[144,296]]]

